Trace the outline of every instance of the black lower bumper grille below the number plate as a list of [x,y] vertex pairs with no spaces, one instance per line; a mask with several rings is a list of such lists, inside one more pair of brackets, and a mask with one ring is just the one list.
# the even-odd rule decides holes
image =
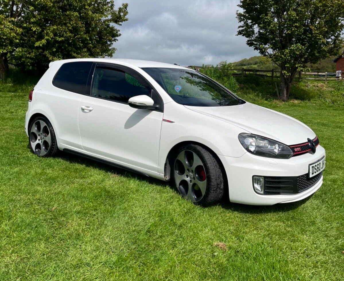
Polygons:
[[308,174],[298,177],[264,177],[264,194],[297,194],[314,186],[321,176],[322,172],[313,178],[309,178]]

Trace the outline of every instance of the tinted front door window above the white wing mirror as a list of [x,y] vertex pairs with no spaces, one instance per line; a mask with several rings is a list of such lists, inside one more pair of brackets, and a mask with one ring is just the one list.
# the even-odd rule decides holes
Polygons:
[[91,95],[103,99],[128,102],[136,95],[151,95],[135,77],[115,69],[96,68],[93,75]]

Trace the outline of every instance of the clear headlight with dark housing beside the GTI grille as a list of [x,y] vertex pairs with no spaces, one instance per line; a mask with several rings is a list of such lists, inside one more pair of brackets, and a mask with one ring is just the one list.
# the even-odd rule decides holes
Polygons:
[[293,156],[289,146],[270,138],[245,133],[239,134],[238,138],[241,145],[255,155],[284,159]]

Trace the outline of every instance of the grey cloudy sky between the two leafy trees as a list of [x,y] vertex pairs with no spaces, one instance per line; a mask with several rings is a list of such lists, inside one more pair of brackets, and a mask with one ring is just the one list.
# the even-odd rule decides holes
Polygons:
[[115,0],[129,3],[115,57],[177,63],[218,64],[257,55],[235,36],[239,0]]

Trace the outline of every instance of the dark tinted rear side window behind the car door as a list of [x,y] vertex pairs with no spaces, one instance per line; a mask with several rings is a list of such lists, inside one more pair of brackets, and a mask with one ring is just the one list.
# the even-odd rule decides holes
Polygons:
[[57,71],[53,85],[57,88],[85,94],[86,83],[92,61],[77,61],[74,63],[65,63]]

